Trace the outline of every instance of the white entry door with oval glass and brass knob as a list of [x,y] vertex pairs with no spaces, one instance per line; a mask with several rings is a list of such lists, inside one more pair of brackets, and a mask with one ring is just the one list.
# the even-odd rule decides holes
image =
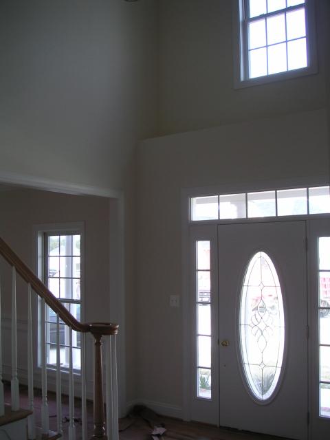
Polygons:
[[305,237],[304,221],[218,227],[220,426],[307,439]]

